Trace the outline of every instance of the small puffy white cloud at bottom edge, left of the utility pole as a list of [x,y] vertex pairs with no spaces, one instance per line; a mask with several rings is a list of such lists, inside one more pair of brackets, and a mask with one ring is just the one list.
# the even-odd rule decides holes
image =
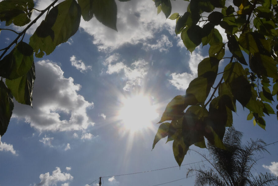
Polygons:
[[[56,167],[56,170],[52,172],[52,175],[49,174],[49,172],[45,174],[40,174],[40,183],[37,184],[38,186],[52,186],[57,185],[58,182],[65,182],[73,180],[73,176],[71,176],[69,173],[61,172],[61,169],[59,167]],[[64,185],[67,186],[67,185]]]

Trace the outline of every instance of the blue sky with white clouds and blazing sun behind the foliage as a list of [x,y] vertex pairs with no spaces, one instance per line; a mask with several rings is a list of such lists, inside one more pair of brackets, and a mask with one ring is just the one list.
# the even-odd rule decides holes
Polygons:
[[[51,2],[36,0],[35,8],[42,10]],[[187,2],[172,2],[172,13],[182,15]],[[106,186],[153,186],[185,178],[187,168],[205,164],[194,163],[204,159],[190,152],[183,164],[194,164],[173,167],[178,164],[172,143],[166,139],[151,149],[156,123],[167,103],[185,94],[208,46],[188,52],[175,35],[175,21],[157,15],[150,0],[116,3],[117,32],[95,18],[89,22],[81,19],[80,28],[68,42],[48,56],[34,58],[33,106],[14,100],[10,124],[1,137],[0,186],[85,186],[95,180],[91,185],[97,186],[99,177],[104,177],[102,185]],[[28,30],[25,42],[36,26]],[[225,40],[225,33],[220,32]],[[0,48],[15,37],[2,30]],[[227,63],[220,65],[224,68]],[[262,138],[267,144],[276,142],[276,116],[265,118],[263,130],[246,121],[248,113],[237,105],[233,114],[234,127],[244,134],[242,141]],[[270,154],[258,156],[263,158],[252,174],[278,175],[277,146],[267,146]],[[173,168],[145,172],[166,167]],[[117,176],[135,172],[145,173]],[[194,178],[163,185],[193,185]]]

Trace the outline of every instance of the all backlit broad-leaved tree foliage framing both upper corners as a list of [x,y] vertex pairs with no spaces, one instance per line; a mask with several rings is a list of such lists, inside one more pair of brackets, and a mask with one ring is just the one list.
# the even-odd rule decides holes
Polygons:
[[[19,33],[0,28],[0,31],[10,30],[17,34],[9,46],[0,49],[0,136],[10,122],[13,97],[19,103],[32,106],[34,56],[49,55],[56,46],[66,42],[78,30],[81,16],[85,21],[95,16],[105,26],[117,30],[115,0],[56,3],[57,0],[44,10],[36,10],[33,0],[0,2],[1,22],[6,26],[27,25]],[[216,147],[225,148],[222,139],[225,127],[232,126],[236,101],[250,110],[247,119],[254,118],[254,125],[262,128],[266,125],[265,114],[275,114],[272,103],[273,96],[278,99],[277,1],[234,0],[231,5],[228,3],[225,0],[191,0],[183,15],[170,16],[171,1],[154,0],[158,13],[162,11],[166,18],[170,16],[169,19],[176,20],[175,33],[180,34],[187,50],[193,52],[201,44],[210,46],[209,57],[200,61],[198,77],[191,81],[186,94],[174,97],[166,106],[154,139],[153,148],[161,138],[168,136],[167,141],[173,140],[173,152],[179,165],[189,146],[206,147],[204,138]],[[33,11],[40,14],[31,21]],[[26,31],[44,14],[44,20],[29,43],[23,42]],[[225,29],[227,43],[223,43],[215,28],[217,25]],[[230,56],[224,57],[225,53]],[[219,63],[224,59],[228,62],[224,71],[219,72]]]

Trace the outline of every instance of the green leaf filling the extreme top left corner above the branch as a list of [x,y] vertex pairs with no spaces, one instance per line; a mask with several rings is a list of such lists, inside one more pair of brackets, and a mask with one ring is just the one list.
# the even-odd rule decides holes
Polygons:
[[0,2],[0,20],[6,21],[6,26],[24,26],[30,22],[33,7],[33,0],[4,0]]

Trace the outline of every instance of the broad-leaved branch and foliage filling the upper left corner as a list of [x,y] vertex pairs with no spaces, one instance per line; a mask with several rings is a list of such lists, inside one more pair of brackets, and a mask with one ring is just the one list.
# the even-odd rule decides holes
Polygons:
[[[0,136],[9,125],[14,108],[13,97],[21,104],[32,106],[32,92],[35,80],[34,53],[36,57],[49,55],[56,46],[66,42],[78,30],[81,16],[89,21],[93,16],[117,31],[117,5],[115,0],[65,0],[56,6],[58,0],[53,1],[46,9],[34,8],[33,0],[4,0],[0,2],[0,20],[6,26],[25,26],[23,31],[16,32],[8,28],[2,30],[13,31],[17,34],[14,41],[0,56]],[[129,0],[119,0],[129,1]],[[32,13],[40,14],[31,21]],[[46,13],[45,19],[30,37],[29,43],[23,42],[26,31]],[[10,53],[9,49],[15,47]],[[6,55],[5,55],[6,54]],[[5,78],[5,83],[3,81]]]

